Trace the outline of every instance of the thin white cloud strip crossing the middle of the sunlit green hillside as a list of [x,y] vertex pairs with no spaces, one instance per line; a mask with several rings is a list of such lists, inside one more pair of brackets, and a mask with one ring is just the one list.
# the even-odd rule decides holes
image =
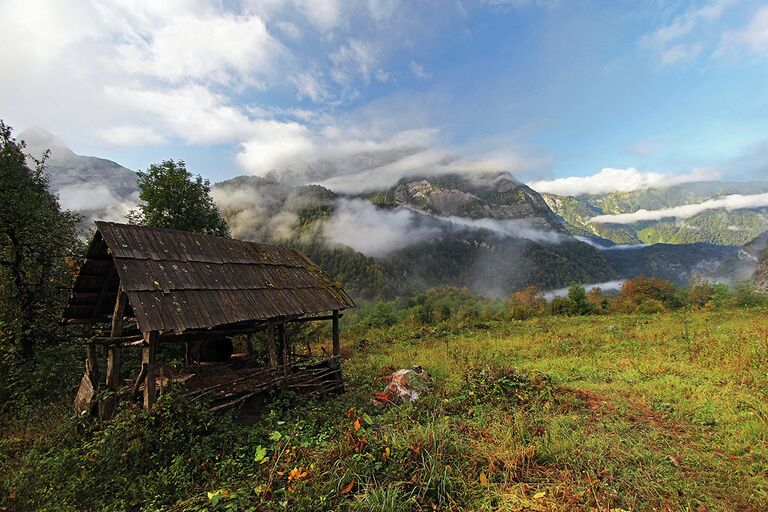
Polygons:
[[675,206],[673,208],[662,208],[660,210],[642,209],[633,213],[598,215],[597,217],[592,217],[590,222],[598,224],[632,224],[634,222],[645,220],[661,220],[668,218],[687,219],[707,210],[717,210],[720,208],[726,210],[738,210],[741,208],[761,208],[765,206],[768,206],[768,193],[746,196],[733,194],[720,199],[708,199],[703,203],[686,204],[683,206]]

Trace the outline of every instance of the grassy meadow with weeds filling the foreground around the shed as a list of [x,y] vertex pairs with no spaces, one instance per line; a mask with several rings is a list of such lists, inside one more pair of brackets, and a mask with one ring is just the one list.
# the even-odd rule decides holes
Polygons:
[[[281,399],[249,425],[173,395],[106,429],[17,419],[0,503],[768,510],[764,310],[351,326],[344,341],[347,393]],[[371,405],[379,377],[416,364],[432,393]]]

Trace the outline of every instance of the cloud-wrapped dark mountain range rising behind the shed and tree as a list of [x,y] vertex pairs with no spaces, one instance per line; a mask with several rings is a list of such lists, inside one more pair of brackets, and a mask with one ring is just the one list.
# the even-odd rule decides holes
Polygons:
[[[53,147],[51,189],[62,206],[80,206],[86,223],[122,220],[138,200],[133,171],[77,155],[41,130],[24,137],[38,154]],[[504,172],[415,174],[361,195],[275,175],[239,176],[214,184],[212,195],[234,236],[297,247],[369,297],[443,285],[506,295],[528,285],[559,288],[638,273],[684,282],[737,251],[712,244],[612,247],[609,237],[576,229],[553,211],[554,196]]]

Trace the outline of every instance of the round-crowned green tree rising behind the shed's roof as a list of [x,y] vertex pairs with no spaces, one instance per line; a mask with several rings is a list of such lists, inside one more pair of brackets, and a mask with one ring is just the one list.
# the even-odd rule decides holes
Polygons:
[[211,198],[211,184],[187,171],[184,161],[165,160],[139,172],[138,209],[132,224],[230,236],[227,221]]

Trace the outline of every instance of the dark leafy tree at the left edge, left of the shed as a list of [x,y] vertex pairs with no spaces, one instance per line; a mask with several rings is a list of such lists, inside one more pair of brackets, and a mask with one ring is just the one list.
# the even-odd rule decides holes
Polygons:
[[29,156],[0,121],[0,338],[23,359],[58,330],[81,247],[77,221],[48,191],[45,158]]

